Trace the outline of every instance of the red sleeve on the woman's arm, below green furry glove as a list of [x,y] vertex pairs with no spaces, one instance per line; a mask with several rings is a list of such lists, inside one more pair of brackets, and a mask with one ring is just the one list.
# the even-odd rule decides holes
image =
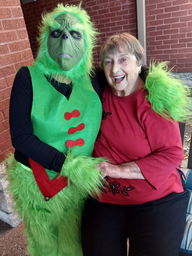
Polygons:
[[135,160],[146,180],[158,189],[183,160],[183,147],[177,122],[151,110],[144,121],[151,154]]

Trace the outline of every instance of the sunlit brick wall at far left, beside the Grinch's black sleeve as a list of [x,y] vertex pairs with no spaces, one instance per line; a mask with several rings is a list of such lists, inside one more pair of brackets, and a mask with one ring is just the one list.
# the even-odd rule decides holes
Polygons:
[[29,44],[20,0],[0,1],[0,162],[13,151],[9,131],[9,97],[19,67],[31,64]]

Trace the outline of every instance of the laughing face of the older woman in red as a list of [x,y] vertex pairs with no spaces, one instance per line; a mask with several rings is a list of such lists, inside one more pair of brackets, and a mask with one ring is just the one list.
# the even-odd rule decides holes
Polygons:
[[134,54],[127,53],[122,48],[118,52],[110,53],[104,59],[105,76],[118,96],[127,96],[138,88],[138,74],[141,66],[137,64]]

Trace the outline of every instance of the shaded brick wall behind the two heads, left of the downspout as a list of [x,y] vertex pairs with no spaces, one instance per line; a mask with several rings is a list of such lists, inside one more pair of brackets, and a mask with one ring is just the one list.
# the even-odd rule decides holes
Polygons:
[[[38,0],[21,5],[34,56],[38,48],[36,38],[38,36],[37,27],[41,21],[41,13],[44,10],[52,10],[57,2],[57,0]],[[80,1],[66,0],[59,2],[78,4]],[[127,31],[137,36],[136,0],[84,0],[82,7],[87,10],[101,33],[98,42],[99,46],[109,35],[116,32]],[[99,62],[99,49],[100,47],[97,47],[94,58],[96,63]]]

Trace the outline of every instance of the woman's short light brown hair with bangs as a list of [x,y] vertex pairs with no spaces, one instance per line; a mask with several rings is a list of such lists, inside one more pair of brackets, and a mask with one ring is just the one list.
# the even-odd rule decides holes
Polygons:
[[103,68],[103,61],[108,54],[119,51],[119,48],[125,49],[126,53],[132,53],[137,58],[138,66],[143,64],[144,49],[140,42],[133,35],[123,32],[116,35],[111,35],[103,44],[100,51],[101,66]]

